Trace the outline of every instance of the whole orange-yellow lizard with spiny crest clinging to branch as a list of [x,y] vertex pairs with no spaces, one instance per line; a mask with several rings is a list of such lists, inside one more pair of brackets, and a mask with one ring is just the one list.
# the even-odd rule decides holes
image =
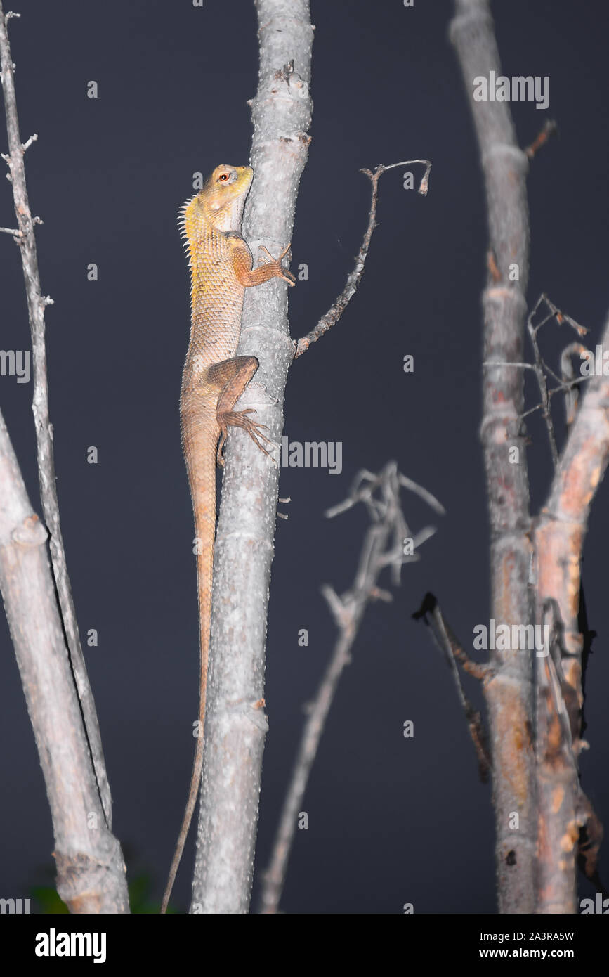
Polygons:
[[197,542],[199,609],[199,712],[197,740],[182,828],[163,896],[165,913],[183,854],[203,770],[203,732],[207,687],[212,573],[216,535],[216,464],[223,465],[223,445],[229,425],[242,428],[257,446],[269,452],[266,428],[248,416],[250,408],[234,404],[256,370],[256,357],[237,357],[245,289],[282,278],[296,278],[281,261],[290,249],[254,269],[251,251],[241,236],[245,199],[252,186],[250,166],[217,166],[202,190],[189,197],[180,211],[180,229],[190,267],[190,339],[183,367],[180,418],[183,456],[188,475]]

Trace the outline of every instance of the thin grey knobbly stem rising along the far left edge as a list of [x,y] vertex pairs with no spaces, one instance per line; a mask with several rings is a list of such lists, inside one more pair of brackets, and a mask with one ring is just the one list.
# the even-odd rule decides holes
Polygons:
[[61,625],[65,634],[70,664],[78,690],[85,731],[102,799],[103,813],[108,828],[111,828],[112,807],[110,788],[103,761],[102,738],[100,736],[95,702],[89,685],[85,659],[80,646],[78,624],[72,601],[65,554],[63,551],[63,540],[61,537],[60,508],[53,455],[53,427],[49,419],[49,390],[47,384],[45,347],[45,307],[51,303],[51,299],[42,295],[40,276],[38,274],[38,259],[36,256],[36,240],[34,236],[34,224],[41,222],[39,219],[32,218],[31,216],[25,184],[23,154],[25,149],[31,145],[31,142],[36,137],[32,136],[25,144],[21,143],[15,94],[14,65],[7,30],[8,21],[11,17],[16,16],[19,15],[12,14],[11,12],[5,15],[0,0],[0,67],[2,69],[1,80],[9,139],[9,153],[8,155],[3,153],[3,159],[5,159],[9,166],[10,180],[13,187],[15,213],[19,228],[15,239],[20,247],[25,294],[27,297],[27,313],[31,331],[34,381],[32,411],[36,431],[40,500],[45,523],[49,531],[49,547],[51,550],[53,576],[61,609]]

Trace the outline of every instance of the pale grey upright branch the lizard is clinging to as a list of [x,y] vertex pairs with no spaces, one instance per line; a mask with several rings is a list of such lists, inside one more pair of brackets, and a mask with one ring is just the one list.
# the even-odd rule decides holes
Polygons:
[[[254,185],[243,234],[252,253],[290,241],[306,161],[312,27],[307,0],[257,0],[260,79],[252,102]],[[248,290],[239,355],[260,368],[241,398],[276,445],[294,344],[285,283]],[[241,432],[228,435],[214,551],[205,761],[191,911],[247,913],[266,732],[264,640],[279,471]],[[252,450],[253,448],[253,450]]]

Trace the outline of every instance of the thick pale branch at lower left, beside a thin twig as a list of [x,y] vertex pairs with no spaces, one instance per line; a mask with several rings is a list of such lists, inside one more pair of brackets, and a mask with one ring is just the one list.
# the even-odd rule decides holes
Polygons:
[[70,913],[129,913],[120,845],[102,804],[45,548],[0,414],[0,588],[51,807],[57,888]]

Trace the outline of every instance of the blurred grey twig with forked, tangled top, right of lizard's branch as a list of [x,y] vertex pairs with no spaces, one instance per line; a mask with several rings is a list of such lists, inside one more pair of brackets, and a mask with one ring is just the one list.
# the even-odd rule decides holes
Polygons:
[[[315,698],[307,708],[308,716],[283,803],[269,866],[264,872],[262,913],[278,912],[304,790],[339,679],[350,660],[350,651],[361,619],[371,601],[391,599],[391,595],[378,586],[379,576],[387,563],[390,562],[395,572],[394,578],[396,574],[399,581],[401,567],[406,562],[403,540],[405,537],[413,537],[400,505],[400,486],[404,483],[412,485],[409,479],[399,475],[395,462],[389,462],[380,475],[362,471],[356,477],[345,502],[326,512],[326,516],[332,518],[358,502],[363,502],[372,525],[364,537],[357,572],[350,589],[339,596],[330,586],[322,588],[339,636]],[[420,493],[421,487],[416,488]],[[436,499],[433,501],[436,511],[438,507],[444,511]],[[400,540],[399,549],[395,545],[396,539]]]

